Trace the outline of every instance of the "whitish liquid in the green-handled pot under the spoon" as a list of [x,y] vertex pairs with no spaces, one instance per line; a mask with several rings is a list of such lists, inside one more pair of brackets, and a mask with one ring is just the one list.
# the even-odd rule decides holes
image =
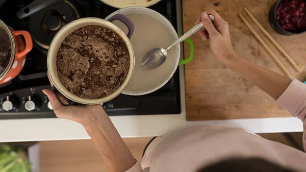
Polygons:
[[[131,38],[135,54],[135,68],[130,83],[125,88],[127,92],[145,92],[154,89],[165,82],[175,67],[177,46],[167,51],[166,61],[156,69],[144,70],[141,68],[143,56],[155,47],[168,47],[175,41],[173,33],[164,26],[158,19],[145,14],[127,14],[135,25]],[[127,33],[126,26],[115,20],[113,22],[124,33]]]

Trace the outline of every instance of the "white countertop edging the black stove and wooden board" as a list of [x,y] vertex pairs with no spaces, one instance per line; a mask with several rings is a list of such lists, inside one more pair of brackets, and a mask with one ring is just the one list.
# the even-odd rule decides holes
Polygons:
[[[181,108],[179,115],[111,116],[122,137],[159,136],[193,125],[240,127],[254,133],[301,132],[302,122],[294,117],[186,121],[184,66],[180,66]],[[59,119],[0,120],[0,142],[89,139],[82,125]]]

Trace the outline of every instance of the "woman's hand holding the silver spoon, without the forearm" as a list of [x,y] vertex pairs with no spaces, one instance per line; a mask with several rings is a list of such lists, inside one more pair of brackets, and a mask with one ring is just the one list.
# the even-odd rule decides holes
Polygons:
[[[214,23],[208,16],[212,14],[215,17]],[[215,10],[208,10],[203,12],[195,21],[195,24],[202,22],[204,25],[203,30],[199,31],[199,36],[203,40],[211,40],[211,50],[215,57],[220,62],[226,62],[236,57],[234,51],[230,31],[228,31],[228,23],[220,17],[220,15]]]

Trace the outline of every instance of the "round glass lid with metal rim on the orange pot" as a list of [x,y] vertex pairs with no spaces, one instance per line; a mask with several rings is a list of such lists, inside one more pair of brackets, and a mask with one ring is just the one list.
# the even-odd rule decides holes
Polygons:
[[10,70],[14,61],[15,44],[13,34],[8,26],[0,20],[0,80]]

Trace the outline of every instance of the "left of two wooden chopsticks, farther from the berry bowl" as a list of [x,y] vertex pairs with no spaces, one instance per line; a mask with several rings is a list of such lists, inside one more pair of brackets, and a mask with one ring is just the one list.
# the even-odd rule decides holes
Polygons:
[[271,51],[271,49],[269,48],[269,46],[264,42],[264,40],[258,35],[258,33],[252,28],[252,26],[250,25],[250,23],[241,15],[239,14],[239,16],[241,17],[241,19],[244,21],[244,23],[246,24],[246,26],[250,29],[250,31],[255,35],[255,37],[259,40],[259,42],[265,47],[265,49],[267,50],[267,52],[272,56],[272,58],[276,61],[276,63],[279,65],[279,67],[281,67],[284,72],[287,74],[287,76],[293,80],[293,76],[291,75],[291,73],[286,69],[286,67],[283,65],[283,63],[281,61],[278,60],[278,58],[276,57],[276,55]]

